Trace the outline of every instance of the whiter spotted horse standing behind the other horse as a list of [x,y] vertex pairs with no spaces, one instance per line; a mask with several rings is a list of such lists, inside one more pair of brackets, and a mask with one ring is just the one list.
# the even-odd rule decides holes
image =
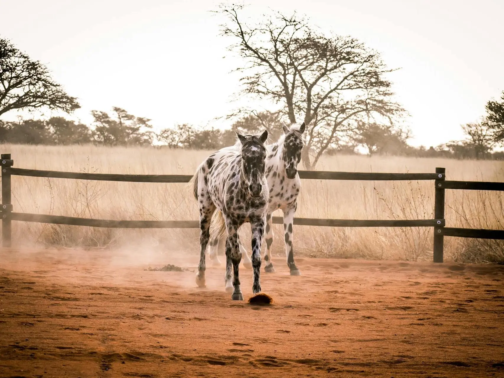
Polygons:
[[[268,213],[266,215],[266,252],[264,261],[265,271],[274,273],[275,268],[271,260],[271,244],[273,243],[273,229],[271,227],[271,217],[275,210],[281,209],[284,220],[284,240],[287,266],[292,276],[300,275],[299,269],[294,263],[292,223],[297,208],[297,196],[301,189],[301,180],[297,173],[297,165],[301,159],[301,150],[304,147],[303,133],[305,123],[294,123],[289,128],[283,127],[284,134],[278,142],[267,145],[268,157],[266,158],[266,178],[269,187]],[[245,136],[249,137],[249,136]],[[228,149],[235,148],[227,147]],[[216,217],[217,219],[217,217]],[[215,229],[212,225],[212,230]],[[222,234],[222,233],[220,233]],[[219,238],[218,233],[212,234],[209,243],[209,258],[214,265],[221,265],[217,257]],[[248,258],[246,249],[239,243],[241,254],[244,258],[243,265],[249,268],[252,264]]]

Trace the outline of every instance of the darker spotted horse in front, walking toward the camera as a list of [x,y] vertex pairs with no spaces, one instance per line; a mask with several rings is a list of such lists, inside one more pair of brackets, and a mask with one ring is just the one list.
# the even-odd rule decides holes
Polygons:
[[[210,155],[191,179],[194,197],[200,209],[200,264],[196,283],[205,287],[205,250],[210,238],[210,223],[215,210],[217,230],[226,238],[226,291],[231,299],[243,300],[238,277],[241,253],[238,247],[238,228],[250,222],[252,232],[252,266],[254,270],[254,294],[261,291],[261,244],[266,224],[268,182],[266,180],[266,156],[264,145],[268,138],[244,136],[236,133],[235,148],[224,148]],[[231,263],[233,280],[231,281]]]

